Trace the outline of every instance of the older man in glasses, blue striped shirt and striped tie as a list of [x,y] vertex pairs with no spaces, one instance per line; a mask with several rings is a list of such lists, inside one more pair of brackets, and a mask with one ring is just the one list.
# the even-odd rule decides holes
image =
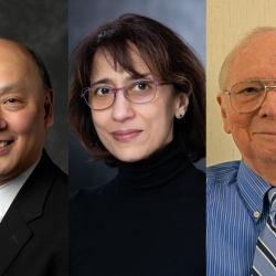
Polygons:
[[220,86],[242,160],[208,168],[208,275],[276,275],[276,28],[238,43]]

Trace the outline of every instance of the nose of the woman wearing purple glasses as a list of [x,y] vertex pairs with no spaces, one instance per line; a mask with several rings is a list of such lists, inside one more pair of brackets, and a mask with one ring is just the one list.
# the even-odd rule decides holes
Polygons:
[[112,108],[112,118],[116,121],[125,121],[136,115],[132,104],[124,95],[124,89],[117,91]]

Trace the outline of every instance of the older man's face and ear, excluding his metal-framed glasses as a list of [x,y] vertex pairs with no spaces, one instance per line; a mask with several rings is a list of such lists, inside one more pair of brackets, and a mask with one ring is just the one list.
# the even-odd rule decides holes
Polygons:
[[[276,79],[276,34],[266,32],[245,42],[234,54],[226,88],[246,79]],[[270,82],[268,85],[276,85]],[[225,99],[225,100],[224,100]],[[224,130],[232,134],[245,162],[255,168],[259,161],[276,164],[276,92],[269,89],[262,106],[237,113],[230,96],[220,94]]]

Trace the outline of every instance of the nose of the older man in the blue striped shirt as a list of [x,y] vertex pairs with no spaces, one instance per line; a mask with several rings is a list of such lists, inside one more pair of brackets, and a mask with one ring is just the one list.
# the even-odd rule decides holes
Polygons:
[[261,105],[258,115],[276,119],[276,86],[267,87],[265,99]]

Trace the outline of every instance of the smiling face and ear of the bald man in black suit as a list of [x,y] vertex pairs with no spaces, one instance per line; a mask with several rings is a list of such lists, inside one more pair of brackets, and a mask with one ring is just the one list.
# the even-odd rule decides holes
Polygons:
[[40,70],[18,44],[0,40],[0,185],[40,157],[53,125],[53,92],[42,86]]

